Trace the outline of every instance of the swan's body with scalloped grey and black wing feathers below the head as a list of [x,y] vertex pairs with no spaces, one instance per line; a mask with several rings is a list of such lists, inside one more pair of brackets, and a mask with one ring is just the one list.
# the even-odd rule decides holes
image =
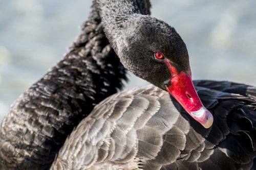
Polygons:
[[155,86],[116,93],[71,133],[51,169],[255,169],[256,88],[195,81],[205,129]]

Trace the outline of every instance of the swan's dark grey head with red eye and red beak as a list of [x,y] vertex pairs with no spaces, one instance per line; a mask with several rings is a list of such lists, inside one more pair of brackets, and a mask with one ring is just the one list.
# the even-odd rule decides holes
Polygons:
[[173,27],[151,16],[134,14],[120,26],[115,50],[125,68],[168,91],[205,128],[213,123],[191,79],[186,45]]

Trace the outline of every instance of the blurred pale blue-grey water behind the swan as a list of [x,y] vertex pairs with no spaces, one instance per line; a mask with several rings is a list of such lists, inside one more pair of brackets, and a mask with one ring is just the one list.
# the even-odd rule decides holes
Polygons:
[[[256,1],[151,2],[152,15],[185,41],[193,79],[256,86]],[[68,51],[90,6],[89,0],[0,0],[0,119]],[[125,88],[145,84],[131,75]]]

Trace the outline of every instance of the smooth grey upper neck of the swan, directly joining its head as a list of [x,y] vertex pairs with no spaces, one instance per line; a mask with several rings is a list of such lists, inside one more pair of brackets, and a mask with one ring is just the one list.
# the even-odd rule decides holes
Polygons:
[[149,0],[97,0],[97,3],[104,32],[116,52],[125,25],[136,15],[149,15],[151,7]]

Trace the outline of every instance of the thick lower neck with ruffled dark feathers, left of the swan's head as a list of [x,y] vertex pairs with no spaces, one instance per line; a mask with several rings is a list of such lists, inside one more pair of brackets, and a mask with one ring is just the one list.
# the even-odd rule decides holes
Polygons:
[[0,128],[0,169],[49,169],[93,107],[122,88],[126,70],[93,3],[70,52],[14,102]]

